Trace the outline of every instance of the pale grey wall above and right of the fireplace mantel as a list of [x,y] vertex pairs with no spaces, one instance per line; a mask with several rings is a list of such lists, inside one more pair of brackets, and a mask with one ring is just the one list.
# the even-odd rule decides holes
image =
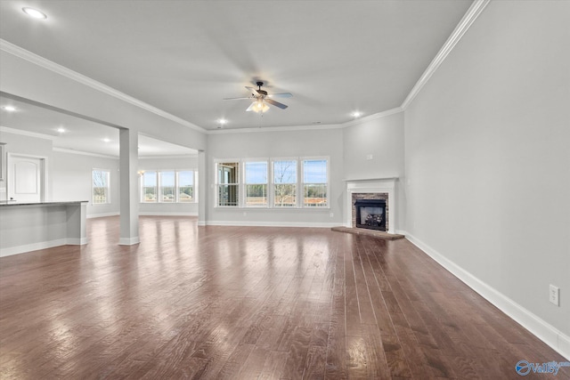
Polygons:
[[[345,179],[398,178],[396,230],[405,226],[403,112],[363,118],[343,129]],[[371,159],[369,159],[371,156]],[[390,210],[394,212],[394,210]]]

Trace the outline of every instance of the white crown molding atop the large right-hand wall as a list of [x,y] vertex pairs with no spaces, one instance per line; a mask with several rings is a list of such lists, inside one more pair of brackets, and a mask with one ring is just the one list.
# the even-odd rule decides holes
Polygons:
[[473,22],[479,17],[479,14],[483,12],[487,4],[489,4],[491,0],[475,0],[473,4],[469,7],[468,11],[465,13],[463,18],[460,20],[460,23],[455,27],[452,32],[452,35],[447,38],[445,41],[444,46],[439,50],[436,54],[436,57],[431,61],[428,66],[428,69],[424,71],[424,73],[419,77],[418,82],[416,85],[413,86],[411,92],[408,93],[406,99],[404,99],[402,106],[400,108],[406,109],[411,104],[411,101],[418,95],[419,91],[421,91],[422,87],[428,83],[429,78],[436,72],[436,69],[442,64],[442,62],[447,58],[449,53],[452,52],[453,47],[460,42],[461,37],[468,31],[471,27]]

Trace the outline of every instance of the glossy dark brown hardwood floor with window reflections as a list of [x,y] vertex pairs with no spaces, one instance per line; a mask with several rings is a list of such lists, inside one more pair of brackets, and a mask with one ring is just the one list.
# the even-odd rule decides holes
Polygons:
[[566,361],[405,239],[188,217],[141,217],[132,247],[118,217],[88,231],[0,259],[0,378],[517,379],[518,360]]

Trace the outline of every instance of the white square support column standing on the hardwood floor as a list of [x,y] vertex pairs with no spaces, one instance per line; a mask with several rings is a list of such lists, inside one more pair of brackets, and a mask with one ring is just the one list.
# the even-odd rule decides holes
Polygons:
[[120,177],[120,239],[118,244],[132,246],[139,239],[139,187],[138,133],[128,129],[119,130],[119,177]]

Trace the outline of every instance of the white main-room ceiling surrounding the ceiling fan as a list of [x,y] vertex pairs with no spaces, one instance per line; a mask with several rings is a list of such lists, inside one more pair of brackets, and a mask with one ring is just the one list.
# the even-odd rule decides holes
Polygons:
[[[399,107],[471,3],[2,0],[0,37],[207,130],[335,125]],[[256,80],[289,109],[223,100]]]

